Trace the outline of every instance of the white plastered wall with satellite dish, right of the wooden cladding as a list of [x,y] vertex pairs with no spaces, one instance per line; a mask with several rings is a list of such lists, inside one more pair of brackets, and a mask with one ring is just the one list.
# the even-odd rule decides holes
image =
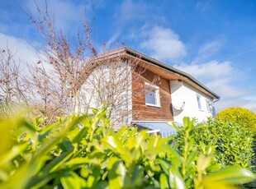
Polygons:
[[[201,122],[212,116],[206,106],[206,100],[212,104],[213,99],[211,97],[183,81],[170,81],[170,88],[174,122],[182,123],[184,117],[197,118]],[[201,109],[198,108],[197,95],[201,99]]]

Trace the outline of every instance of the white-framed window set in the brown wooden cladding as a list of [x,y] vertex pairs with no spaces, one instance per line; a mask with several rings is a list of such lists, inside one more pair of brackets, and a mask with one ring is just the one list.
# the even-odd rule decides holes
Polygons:
[[160,107],[159,87],[145,83],[145,104]]

